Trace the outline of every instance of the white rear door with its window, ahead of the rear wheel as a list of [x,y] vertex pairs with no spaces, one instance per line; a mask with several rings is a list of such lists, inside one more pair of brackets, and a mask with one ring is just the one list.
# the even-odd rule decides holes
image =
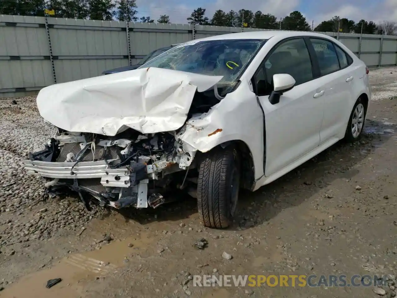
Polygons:
[[[346,130],[346,111],[350,109],[354,77],[349,67],[350,57],[335,43],[310,37],[316,53],[321,77],[317,80],[324,87],[324,119],[320,130],[320,144],[330,139],[340,139]],[[350,58],[350,59],[349,59]],[[350,114],[350,112],[349,112]]]

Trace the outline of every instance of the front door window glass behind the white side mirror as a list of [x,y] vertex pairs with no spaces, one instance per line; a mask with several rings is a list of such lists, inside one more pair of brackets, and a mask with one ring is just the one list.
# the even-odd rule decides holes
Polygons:
[[273,75],[289,74],[300,85],[314,79],[312,62],[303,38],[291,39],[277,46],[255,75],[257,95],[270,95]]

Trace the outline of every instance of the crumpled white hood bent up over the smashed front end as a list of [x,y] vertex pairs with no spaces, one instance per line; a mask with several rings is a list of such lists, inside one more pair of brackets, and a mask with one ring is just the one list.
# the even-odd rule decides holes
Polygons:
[[143,134],[172,131],[185,123],[193,96],[222,76],[141,68],[45,87],[37,108],[69,132],[116,135],[127,127]]

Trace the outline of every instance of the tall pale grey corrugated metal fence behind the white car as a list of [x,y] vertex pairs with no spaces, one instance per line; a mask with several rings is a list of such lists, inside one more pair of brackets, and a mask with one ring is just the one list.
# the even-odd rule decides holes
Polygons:
[[[136,64],[164,46],[241,28],[188,24],[127,23],[0,15],[0,98],[36,94],[42,87],[93,77]],[[264,29],[244,28],[244,31]],[[397,64],[397,37],[326,33],[338,38],[367,66]]]

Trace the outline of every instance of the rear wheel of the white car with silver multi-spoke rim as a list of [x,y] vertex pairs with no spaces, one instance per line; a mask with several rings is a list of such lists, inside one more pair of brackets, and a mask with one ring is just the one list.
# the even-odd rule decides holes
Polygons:
[[346,128],[345,140],[347,142],[353,143],[361,138],[366,113],[366,103],[361,98],[357,99],[353,106],[353,110],[351,111],[349,122]]

